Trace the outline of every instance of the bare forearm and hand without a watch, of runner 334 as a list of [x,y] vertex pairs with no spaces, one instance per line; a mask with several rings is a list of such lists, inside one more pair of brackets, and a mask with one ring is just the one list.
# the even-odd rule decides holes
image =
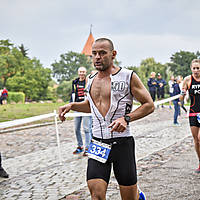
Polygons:
[[68,113],[70,110],[78,111],[78,112],[84,112],[84,113],[90,113],[90,104],[88,100],[82,101],[82,102],[72,102],[68,103],[64,106],[61,106],[58,110],[59,112],[59,118],[61,121],[65,121],[65,114]]

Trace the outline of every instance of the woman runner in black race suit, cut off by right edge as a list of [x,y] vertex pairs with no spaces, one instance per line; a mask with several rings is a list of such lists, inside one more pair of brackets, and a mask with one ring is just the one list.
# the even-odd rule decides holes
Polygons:
[[180,100],[183,101],[188,90],[190,95],[190,129],[194,138],[199,166],[195,172],[200,173],[200,59],[194,59],[190,65],[192,75],[185,77]]

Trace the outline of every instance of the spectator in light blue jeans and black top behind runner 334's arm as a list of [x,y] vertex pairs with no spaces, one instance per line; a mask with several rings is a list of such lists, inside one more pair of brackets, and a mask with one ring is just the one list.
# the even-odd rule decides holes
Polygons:
[[[86,86],[85,67],[80,67],[78,69],[78,76],[79,78],[75,79],[72,82],[72,95],[71,95],[72,102],[82,102],[85,100],[85,86]],[[83,151],[83,140],[81,136],[81,122],[83,121],[83,129],[85,132],[85,151],[83,153],[83,156],[87,156],[87,151],[91,140],[90,117],[89,116],[75,117],[74,121],[75,121],[75,133],[76,133],[78,147],[73,152],[73,154],[79,154]]]

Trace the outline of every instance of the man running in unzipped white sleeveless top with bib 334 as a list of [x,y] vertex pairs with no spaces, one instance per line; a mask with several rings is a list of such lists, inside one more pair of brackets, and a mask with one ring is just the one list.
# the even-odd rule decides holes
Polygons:
[[[93,140],[87,167],[92,200],[106,199],[112,165],[122,199],[143,200],[137,187],[135,142],[129,123],[152,113],[154,104],[134,72],[113,65],[116,54],[111,40],[94,42],[92,59],[98,73],[88,79],[88,99],[60,107],[59,117],[64,121],[70,110],[92,112]],[[141,103],[134,111],[133,98]]]

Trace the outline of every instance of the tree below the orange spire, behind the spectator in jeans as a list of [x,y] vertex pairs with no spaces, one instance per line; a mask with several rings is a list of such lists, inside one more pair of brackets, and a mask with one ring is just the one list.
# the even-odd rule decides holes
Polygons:
[[53,76],[58,82],[69,81],[77,76],[78,68],[84,66],[88,73],[92,70],[91,60],[84,54],[69,51],[60,55],[60,61],[52,64]]

